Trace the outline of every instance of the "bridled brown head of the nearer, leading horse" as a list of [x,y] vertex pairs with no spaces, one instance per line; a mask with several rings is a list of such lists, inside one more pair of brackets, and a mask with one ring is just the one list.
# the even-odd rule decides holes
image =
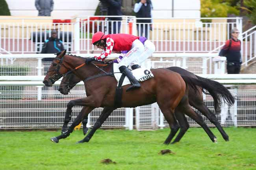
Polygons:
[[52,86],[52,84],[59,80],[63,76],[63,74],[68,71],[68,69],[63,66],[63,58],[65,54],[66,49],[58,53],[52,61],[52,64],[46,73],[45,79],[43,80],[45,86]]

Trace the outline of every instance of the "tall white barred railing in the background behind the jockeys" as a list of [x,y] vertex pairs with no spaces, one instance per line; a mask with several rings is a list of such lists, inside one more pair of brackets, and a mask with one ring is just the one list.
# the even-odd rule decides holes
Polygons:
[[[109,17],[122,17],[122,20],[107,20]],[[63,21],[57,23],[56,19]],[[156,45],[156,52],[209,52],[229,38],[229,30],[232,27],[242,27],[242,18],[149,19],[153,22],[148,23],[152,26],[152,31],[148,31],[147,37]],[[227,22],[231,19],[235,22]],[[134,16],[13,17],[0,20],[0,49],[10,53],[40,53],[51,29],[58,30],[58,37],[63,41],[65,48],[72,53],[97,53],[97,49],[91,45],[91,35],[97,31],[113,33],[113,27],[118,25],[118,22],[121,22],[120,33],[138,35]],[[132,25],[129,25],[129,22]],[[137,24],[138,27],[141,25],[141,23]],[[144,27],[143,30],[138,29],[138,31],[139,35],[142,31],[145,33]],[[4,50],[0,50],[0,53],[5,53]]]

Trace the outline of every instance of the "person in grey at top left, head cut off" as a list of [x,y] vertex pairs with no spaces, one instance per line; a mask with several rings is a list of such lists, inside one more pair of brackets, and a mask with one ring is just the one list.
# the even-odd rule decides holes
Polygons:
[[35,0],[38,16],[51,16],[53,5],[53,0]]

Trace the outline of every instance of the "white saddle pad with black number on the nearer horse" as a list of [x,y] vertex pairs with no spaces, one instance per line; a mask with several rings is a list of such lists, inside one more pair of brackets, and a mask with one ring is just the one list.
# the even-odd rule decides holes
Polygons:
[[[118,64],[114,63],[113,64],[113,71],[114,71],[114,75],[115,75],[115,79],[117,79],[117,82],[119,82],[120,78],[121,78],[121,73],[120,70],[118,68]],[[117,73],[119,72],[119,73]],[[147,79],[150,79],[152,77],[154,77],[154,75],[151,73],[151,71],[145,69],[145,68],[137,68],[132,70],[132,74],[134,75],[134,77],[138,80],[138,81],[145,81]],[[124,82],[122,83],[122,86],[125,86],[127,84],[131,84],[130,80],[125,77],[124,78]],[[118,83],[117,83],[118,85]]]

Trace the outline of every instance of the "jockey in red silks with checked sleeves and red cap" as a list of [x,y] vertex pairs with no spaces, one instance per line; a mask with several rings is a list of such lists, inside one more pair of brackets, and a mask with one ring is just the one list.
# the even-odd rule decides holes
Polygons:
[[121,73],[124,73],[130,80],[132,86],[127,88],[126,91],[130,91],[133,88],[139,88],[141,85],[138,80],[135,79],[134,75],[127,66],[138,65],[138,58],[144,52],[145,48],[142,42],[139,40],[139,37],[130,35],[130,34],[108,34],[98,31],[93,35],[92,38],[93,45],[97,48],[103,49],[100,56],[95,56],[88,58],[86,64],[93,60],[102,61],[107,58],[111,52],[114,51],[124,51],[129,50],[128,53],[122,58],[119,62],[119,70]]

